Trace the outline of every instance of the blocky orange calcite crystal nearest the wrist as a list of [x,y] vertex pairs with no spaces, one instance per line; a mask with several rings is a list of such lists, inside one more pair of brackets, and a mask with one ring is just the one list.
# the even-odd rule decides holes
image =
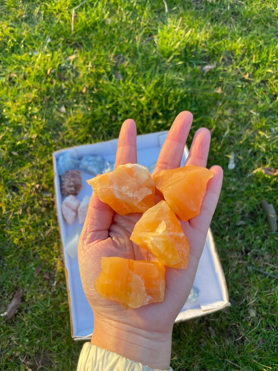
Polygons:
[[100,263],[95,289],[102,298],[127,309],[163,301],[165,267],[161,263],[122,257],[102,257]]

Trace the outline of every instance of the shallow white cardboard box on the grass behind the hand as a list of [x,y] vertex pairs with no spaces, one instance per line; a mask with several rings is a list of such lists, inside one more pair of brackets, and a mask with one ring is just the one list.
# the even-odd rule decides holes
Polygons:
[[[137,137],[138,163],[147,167],[152,166],[158,159],[160,149],[166,139],[168,131],[162,131],[152,134],[139,135]],[[70,257],[65,252],[65,242],[67,236],[77,226],[76,220],[72,226],[69,226],[61,211],[61,204],[64,196],[60,191],[60,178],[57,172],[57,159],[65,151],[69,151],[72,158],[81,159],[83,155],[99,154],[107,161],[115,161],[118,139],[95,144],[81,145],[78,147],[66,148],[53,153],[54,165],[54,186],[56,192],[56,206],[60,226],[60,236],[62,239],[64,263],[66,270],[67,292],[70,307],[71,334],[75,340],[90,339],[93,333],[94,316],[92,309],[86,299],[82,288],[79,274],[77,256]],[[188,149],[185,147],[182,164],[188,155]],[[80,201],[86,195],[91,196],[92,187],[86,183],[87,179],[92,178],[91,174],[82,172],[82,189],[76,196]],[[81,225],[82,227],[82,225]],[[206,237],[205,247],[199,262],[194,286],[199,289],[199,298],[195,302],[186,302],[176,318],[176,322],[205,315],[207,313],[218,311],[229,306],[228,291],[224,273],[215,249],[214,239],[211,230]]]

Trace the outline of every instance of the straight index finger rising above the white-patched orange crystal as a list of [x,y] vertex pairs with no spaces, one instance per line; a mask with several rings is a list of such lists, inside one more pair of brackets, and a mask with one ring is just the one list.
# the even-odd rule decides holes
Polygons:
[[137,163],[136,124],[132,119],[124,121],[120,130],[115,168],[128,163]]

